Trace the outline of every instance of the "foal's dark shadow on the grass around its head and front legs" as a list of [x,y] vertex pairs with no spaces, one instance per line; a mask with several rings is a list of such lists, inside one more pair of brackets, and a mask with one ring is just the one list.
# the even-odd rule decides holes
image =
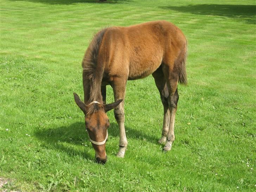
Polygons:
[[[145,138],[148,141],[157,141],[156,137],[153,137],[145,133],[141,133],[136,129],[126,127],[126,131],[128,132],[128,138]],[[111,137],[119,137],[119,127],[117,123],[110,123],[108,133]],[[69,126],[62,126],[58,128],[38,128],[34,135],[39,139],[39,141],[48,144],[47,146],[49,146],[49,148],[59,149],[70,156],[79,155],[85,159],[94,160],[94,156],[91,156],[91,154],[87,153],[85,150],[79,150],[76,147],[76,145],[82,146],[83,143],[87,143],[88,147],[92,148],[91,143],[89,142],[88,134],[85,130],[85,124],[82,121],[73,123]]]

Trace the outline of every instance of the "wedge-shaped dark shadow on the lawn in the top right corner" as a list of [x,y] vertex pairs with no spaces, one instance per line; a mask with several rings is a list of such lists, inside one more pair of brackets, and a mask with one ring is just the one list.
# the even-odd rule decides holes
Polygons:
[[256,5],[200,4],[187,6],[165,6],[160,8],[198,15],[223,16],[244,21],[249,24],[256,24]]

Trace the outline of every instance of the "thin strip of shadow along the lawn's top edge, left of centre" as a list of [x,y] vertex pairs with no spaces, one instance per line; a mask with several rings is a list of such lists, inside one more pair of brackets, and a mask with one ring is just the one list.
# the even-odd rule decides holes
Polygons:
[[11,1],[29,1],[33,3],[43,3],[43,4],[50,4],[50,5],[72,5],[76,3],[96,3],[96,4],[118,4],[123,3],[131,0],[107,0],[107,1],[100,1],[100,0],[11,0]]

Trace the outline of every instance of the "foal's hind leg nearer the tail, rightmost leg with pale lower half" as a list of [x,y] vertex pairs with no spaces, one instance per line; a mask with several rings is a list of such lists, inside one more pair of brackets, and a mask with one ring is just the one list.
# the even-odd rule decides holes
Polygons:
[[169,124],[169,131],[167,133],[167,141],[165,143],[165,147],[163,150],[169,151],[172,148],[172,142],[175,139],[174,136],[174,123],[175,123],[175,114],[177,111],[177,105],[179,100],[179,94],[178,94],[178,79],[179,75],[177,72],[175,72],[170,66],[164,65],[163,66],[163,72],[166,79],[166,84],[168,86],[168,106],[171,113],[170,118],[170,124]]

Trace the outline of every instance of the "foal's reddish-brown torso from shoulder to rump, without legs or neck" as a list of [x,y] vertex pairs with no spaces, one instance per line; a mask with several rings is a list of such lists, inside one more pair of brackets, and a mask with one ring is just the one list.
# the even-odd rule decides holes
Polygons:
[[[152,74],[164,63],[174,65],[186,48],[181,30],[167,21],[151,21],[105,31],[99,57],[108,76],[138,79]],[[173,58],[173,60],[170,60]]]

